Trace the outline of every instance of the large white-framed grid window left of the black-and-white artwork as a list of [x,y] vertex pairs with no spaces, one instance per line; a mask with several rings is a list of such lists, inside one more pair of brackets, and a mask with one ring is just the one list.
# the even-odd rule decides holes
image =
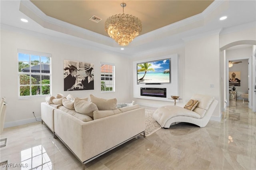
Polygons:
[[51,95],[51,54],[18,49],[18,97]]

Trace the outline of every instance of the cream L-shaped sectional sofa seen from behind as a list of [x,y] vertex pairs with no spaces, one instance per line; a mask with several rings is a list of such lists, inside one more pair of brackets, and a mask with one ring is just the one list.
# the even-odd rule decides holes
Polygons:
[[[66,98],[62,97],[62,100],[66,101]],[[91,101],[98,105],[97,108],[92,102],[84,102],[90,104],[89,109],[96,109],[93,114],[87,115],[76,112],[79,109],[68,109],[63,103],[41,103],[42,123],[54,132],[54,137],[58,137],[83,165],[145,132],[144,108],[133,105],[116,109],[116,106],[112,108],[112,102],[104,100],[91,97]],[[81,108],[83,106],[80,112]],[[108,110],[102,110],[104,108]]]

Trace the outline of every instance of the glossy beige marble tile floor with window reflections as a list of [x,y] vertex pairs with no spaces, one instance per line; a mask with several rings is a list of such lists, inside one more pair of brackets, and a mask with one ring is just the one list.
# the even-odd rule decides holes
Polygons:
[[[156,108],[146,108],[156,109]],[[86,164],[86,169],[256,169],[256,116],[240,101],[204,128],[180,123],[138,136]],[[8,170],[82,170],[82,164],[41,123],[5,128],[0,162]],[[5,167],[0,167],[6,169]]]

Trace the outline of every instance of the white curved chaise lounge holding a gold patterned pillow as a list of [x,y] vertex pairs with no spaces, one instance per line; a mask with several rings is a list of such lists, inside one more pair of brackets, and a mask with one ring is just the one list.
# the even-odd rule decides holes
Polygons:
[[191,99],[198,101],[196,107],[192,108],[192,110],[179,106],[163,106],[156,109],[153,113],[153,118],[163,128],[170,128],[171,125],[180,122],[192,123],[199,127],[205,127],[208,124],[218,101],[212,96],[199,94],[192,96]]

